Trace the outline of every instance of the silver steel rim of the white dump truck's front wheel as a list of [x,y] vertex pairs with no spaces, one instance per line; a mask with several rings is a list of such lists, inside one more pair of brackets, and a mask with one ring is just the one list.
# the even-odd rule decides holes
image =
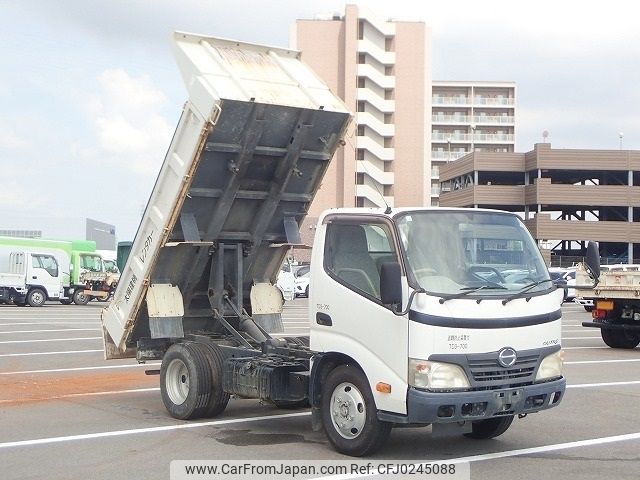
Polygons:
[[338,385],[331,395],[331,422],[341,437],[353,439],[362,433],[367,420],[364,397],[349,382]]

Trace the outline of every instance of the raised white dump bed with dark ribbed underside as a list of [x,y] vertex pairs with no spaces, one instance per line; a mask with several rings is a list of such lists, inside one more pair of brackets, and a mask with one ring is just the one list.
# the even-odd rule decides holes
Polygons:
[[[145,295],[181,292],[184,331],[250,311],[254,283],[275,281],[350,114],[299,54],[176,33],[189,90],[114,298],[107,357],[148,337]],[[178,309],[179,310],[179,309]],[[111,353],[115,353],[112,351]]]

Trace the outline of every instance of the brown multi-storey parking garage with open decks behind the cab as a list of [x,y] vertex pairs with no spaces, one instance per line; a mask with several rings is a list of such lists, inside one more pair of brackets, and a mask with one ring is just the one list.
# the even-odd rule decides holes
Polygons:
[[640,262],[640,151],[474,151],[440,169],[440,204],[519,212],[541,244],[562,256],[600,242],[605,263]]

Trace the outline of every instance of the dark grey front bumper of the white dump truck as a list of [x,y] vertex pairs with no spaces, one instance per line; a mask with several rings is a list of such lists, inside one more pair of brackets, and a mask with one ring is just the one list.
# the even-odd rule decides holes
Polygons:
[[566,385],[562,377],[545,383],[497,390],[439,393],[409,387],[407,415],[380,412],[378,416],[394,423],[428,424],[534,413],[558,405]]

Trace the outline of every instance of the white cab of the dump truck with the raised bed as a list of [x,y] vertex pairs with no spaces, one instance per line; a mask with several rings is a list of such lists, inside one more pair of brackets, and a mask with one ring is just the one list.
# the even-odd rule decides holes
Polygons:
[[[502,274],[514,270],[526,283]],[[563,292],[517,216],[329,211],[317,226],[311,275],[310,346],[319,352],[312,381],[336,384],[336,398],[347,399],[336,409],[329,402],[329,411],[328,393],[316,399],[338,444],[360,435],[367,395],[381,421],[467,422],[476,435],[487,430],[483,422],[496,434],[514,415],[560,402]],[[336,364],[351,372],[333,380]],[[357,377],[361,385],[346,380]]]

